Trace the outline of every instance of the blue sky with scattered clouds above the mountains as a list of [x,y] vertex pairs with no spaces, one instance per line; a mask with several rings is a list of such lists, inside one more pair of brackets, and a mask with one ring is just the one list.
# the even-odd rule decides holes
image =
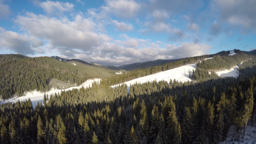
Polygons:
[[256,0],[0,0],[0,54],[101,65],[256,49]]

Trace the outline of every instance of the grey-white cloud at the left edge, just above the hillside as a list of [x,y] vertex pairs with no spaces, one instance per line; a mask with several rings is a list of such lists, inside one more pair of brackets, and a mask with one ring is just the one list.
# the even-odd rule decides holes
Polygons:
[[0,48],[11,49],[22,55],[44,52],[40,47],[43,46],[43,42],[39,39],[31,38],[12,31],[2,31],[0,37]]

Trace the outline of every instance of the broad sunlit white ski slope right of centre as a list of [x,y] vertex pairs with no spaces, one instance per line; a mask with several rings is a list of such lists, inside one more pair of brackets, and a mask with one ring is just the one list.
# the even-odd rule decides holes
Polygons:
[[[164,72],[158,72],[156,74],[153,75],[148,75],[148,76],[144,76],[138,79],[133,79],[131,81],[125,82],[125,84],[128,87],[128,92],[130,89],[130,84],[133,85],[136,82],[137,83],[144,83],[144,82],[152,82],[154,80],[156,80],[157,82],[164,80],[167,82],[170,82],[170,79],[174,80],[176,79],[177,81],[181,81],[181,82],[187,82],[187,81],[191,81],[191,79],[189,78],[189,72],[193,73],[193,70],[196,69],[196,64],[192,64],[192,65],[184,65],[175,69],[170,69]],[[113,85],[111,86],[112,88],[116,87],[118,85]]]

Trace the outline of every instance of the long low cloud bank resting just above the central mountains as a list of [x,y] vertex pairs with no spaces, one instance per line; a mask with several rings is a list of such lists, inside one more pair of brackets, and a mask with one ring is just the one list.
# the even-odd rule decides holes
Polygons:
[[207,54],[209,49],[209,45],[197,43],[183,43],[180,46],[165,44],[164,48],[157,43],[149,43],[148,46],[142,48],[104,43],[97,48],[97,51],[91,54],[78,54],[76,58],[102,65],[124,65],[156,59],[179,59],[203,55]]

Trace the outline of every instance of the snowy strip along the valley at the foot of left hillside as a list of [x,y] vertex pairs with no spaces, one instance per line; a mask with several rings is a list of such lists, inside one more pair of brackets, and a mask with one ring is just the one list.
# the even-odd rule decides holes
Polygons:
[[[25,101],[26,99],[28,100],[30,98],[30,100],[32,101],[32,105],[33,105],[33,108],[35,108],[35,106],[37,105],[37,102],[39,101],[43,103],[43,95],[44,94],[48,94],[49,95],[49,98],[50,98],[50,95],[51,94],[55,94],[59,92],[59,94],[61,93],[61,91],[68,91],[68,90],[72,90],[73,88],[76,88],[76,89],[79,89],[79,88],[82,88],[82,86],[84,88],[86,87],[92,87],[92,83],[93,82],[100,82],[100,79],[89,79],[87,80],[86,82],[82,83],[82,85],[80,86],[77,86],[77,87],[71,87],[71,88],[66,88],[66,89],[63,89],[63,90],[60,90],[60,89],[55,89],[55,88],[52,88],[49,92],[37,92],[37,91],[33,91],[33,92],[27,92],[25,94],[25,96],[22,96],[22,97],[17,97],[17,98],[10,98],[8,100],[4,100],[3,103],[7,103],[7,102],[17,102],[18,100],[20,101]],[[0,102],[0,104],[2,104]]]

